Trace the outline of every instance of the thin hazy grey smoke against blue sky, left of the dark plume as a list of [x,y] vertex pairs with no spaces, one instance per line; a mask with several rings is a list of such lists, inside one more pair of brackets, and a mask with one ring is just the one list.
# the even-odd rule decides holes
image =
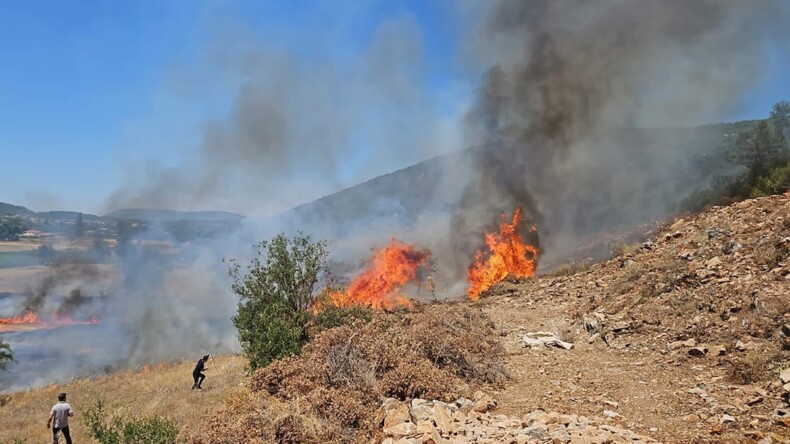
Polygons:
[[271,216],[449,150],[436,136],[447,125],[427,91],[423,35],[413,18],[381,23],[352,56],[305,57],[240,34],[222,28],[194,67],[229,79],[235,98],[227,115],[203,126],[182,164],[130,169],[107,209]]

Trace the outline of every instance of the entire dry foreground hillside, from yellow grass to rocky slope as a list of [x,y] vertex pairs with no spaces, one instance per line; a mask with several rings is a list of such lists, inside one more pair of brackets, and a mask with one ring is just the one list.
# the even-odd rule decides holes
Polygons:
[[[617,250],[618,256],[574,274],[560,268],[502,282],[479,302],[382,312],[370,327],[329,330],[302,358],[251,379],[239,358],[220,358],[221,376],[209,375],[205,393],[178,388],[189,379],[191,363],[185,363],[9,394],[0,413],[16,421],[6,430],[39,439],[41,411],[62,389],[78,409],[112,393],[116,412],[172,416],[193,442],[270,442],[275,436],[388,442],[577,442],[586,436],[585,442],[603,442],[604,435],[606,442],[784,442],[790,426],[790,194],[680,218],[648,242]],[[376,333],[382,326],[388,333]],[[528,332],[555,333],[573,348],[525,347]],[[393,345],[399,343],[406,348]],[[321,368],[339,365],[329,360],[338,346],[349,353],[346,359],[355,356],[340,362],[355,367],[342,367],[341,379],[338,373],[323,379]],[[366,365],[365,353],[381,347],[396,347],[394,373],[374,379],[367,392],[357,390],[361,381],[371,383],[356,373]],[[415,350],[430,352],[433,362],[421,364],[423,358],[410,355]],[[135,396],[116,396],[121,393],[113,387]],[[148,390],[153,394],[136,396]],[[354,410],[359,393],[379,390],[427,399]],[[208,403],[187,413],[195,396]],[[208,407],[221,398],[222,408]],[[332,406],[345,406],[345,413],[316,416]],[[344,417],[350,422],[338,426]],[[196,421],[203,427],[194,429]],[[363,433],[362,424],[374,429]],[[4,442],[10,437],[0,433]]]

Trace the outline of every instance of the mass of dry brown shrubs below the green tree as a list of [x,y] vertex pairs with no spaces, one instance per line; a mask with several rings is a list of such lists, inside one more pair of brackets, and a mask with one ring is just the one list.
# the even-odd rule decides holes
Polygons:
[[[300,357],[257,370],[245,398],[252,407],[233,411],[240,402],[231,400],[227,408],[238,417],[220,413],[224,419],[215,417],[208,428],[233,437],[215,442],[370,442],[379,437],[376,412],[385,397],[469,396],[470,384],[504,381],[501,352],[493,323],[479,309],[433,304],[376,313],[367,324],[321,332]],[[294,406],[301,408],[297,416]]]

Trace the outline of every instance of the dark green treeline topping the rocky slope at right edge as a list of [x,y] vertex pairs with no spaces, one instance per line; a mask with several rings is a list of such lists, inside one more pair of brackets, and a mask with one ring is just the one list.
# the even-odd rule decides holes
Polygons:
[[683,211],[700,211],[713,205],[790,190],[790,102],[773,106],[767,119],[757,121],[749,130],[729,138],[726,157],[743,167],[736,176],[717,176],[710,188],[697,191],[680,205]]

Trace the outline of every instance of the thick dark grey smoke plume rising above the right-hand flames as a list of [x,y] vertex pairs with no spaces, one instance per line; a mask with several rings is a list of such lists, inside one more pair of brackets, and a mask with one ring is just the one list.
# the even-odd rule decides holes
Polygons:
[[[469,252],[524,206],[546,251],[661,217],[708,177],[683,130],[720,119],[770,67],[788,3],[502,0],[485,25],[495,65],[467,119],[475,174],[455,218]],[[720,135],[719,135],[720,137]],[[478,239],[478,240],[476,240]]]

